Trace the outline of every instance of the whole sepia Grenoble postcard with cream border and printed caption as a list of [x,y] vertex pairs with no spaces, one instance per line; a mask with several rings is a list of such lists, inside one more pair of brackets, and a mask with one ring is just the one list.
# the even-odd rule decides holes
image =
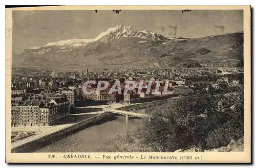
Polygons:
[[6,9],[6,162],[251,162],[250,6]]

